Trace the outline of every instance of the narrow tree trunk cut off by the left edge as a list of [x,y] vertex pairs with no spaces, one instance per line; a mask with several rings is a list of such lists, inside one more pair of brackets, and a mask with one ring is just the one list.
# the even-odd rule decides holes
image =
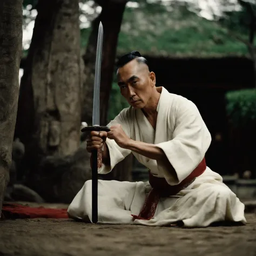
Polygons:
[[22,0],[0,1],[0,217],[16,123],[22,22]]

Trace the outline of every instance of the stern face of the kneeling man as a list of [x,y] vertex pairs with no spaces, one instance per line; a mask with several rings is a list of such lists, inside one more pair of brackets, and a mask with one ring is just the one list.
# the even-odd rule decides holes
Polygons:
[[136,109],[143,109],[149,102],[156,76],[149,72],[147,65],[136,59],[118,69],[118,85],[127,102]]

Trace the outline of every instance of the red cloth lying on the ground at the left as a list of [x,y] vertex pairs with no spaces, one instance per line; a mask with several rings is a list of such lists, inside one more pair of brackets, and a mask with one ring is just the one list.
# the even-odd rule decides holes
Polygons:
[[19,204],[3,204],[1,219],[35,219],[52,218],[67,219],[67,209],[53,209],[44,207],[30,207]]

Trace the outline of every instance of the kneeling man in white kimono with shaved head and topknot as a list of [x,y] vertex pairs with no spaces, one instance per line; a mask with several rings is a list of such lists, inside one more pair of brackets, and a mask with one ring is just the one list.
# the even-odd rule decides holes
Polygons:
[[[132,153],[149,169],[149,181],[99,180],[99,223],[246,224],[244,204],[206,166],[211,134],[196,105],[156,87],[155,74],[137,51],[119,59],[117,78],[130,107],[109,123],[110,132],[91,132],[87,150],[103,150],[101,174]],[[91,220],[91,186],[91,180],[86,181],[73,199],[68,208],[71,218]]]

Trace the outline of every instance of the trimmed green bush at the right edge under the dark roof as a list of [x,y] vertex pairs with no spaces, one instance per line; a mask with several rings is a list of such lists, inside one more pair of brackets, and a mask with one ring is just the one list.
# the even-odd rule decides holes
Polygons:
[[227,115],[235,126],[256,127],[256,89],[229,91],[226,100]]

